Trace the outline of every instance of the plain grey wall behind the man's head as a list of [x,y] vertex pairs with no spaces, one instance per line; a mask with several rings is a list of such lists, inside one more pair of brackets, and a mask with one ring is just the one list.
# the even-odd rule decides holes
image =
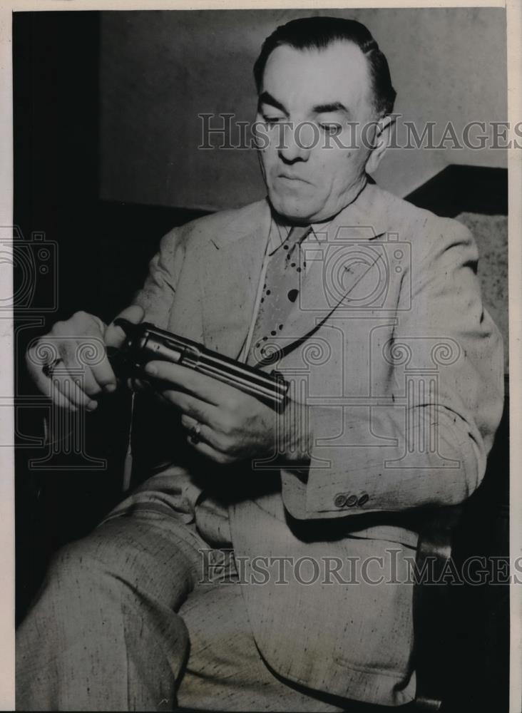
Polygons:
[[[255,118],[252,64],[278,24],[300,16],[367,24],[387,55],[404,120],[506,119],[506,14],[491,8],[150,11],[101,14],[101,196],[217,210],[257,200],[252,150],[198,150],[199,113]],[[216,120],[218,123],[219,120]],[[232,140],[237,144],[237,136]],[[503,150],[389,151],[376,178],[404,196],[446,165],[506,168]]]

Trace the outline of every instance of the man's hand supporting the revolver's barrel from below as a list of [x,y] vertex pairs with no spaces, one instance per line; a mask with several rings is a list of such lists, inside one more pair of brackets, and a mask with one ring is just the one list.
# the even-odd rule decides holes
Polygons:
[[262,458],[276,448],[282,459],[302,461],[308,452],[307,436],[297,426],[302,419],[287,419],[254,396],[179,364],[150,361],[145,371],[160,380],[154,384],[158,393],[182,414],[188,443],[216,463]]

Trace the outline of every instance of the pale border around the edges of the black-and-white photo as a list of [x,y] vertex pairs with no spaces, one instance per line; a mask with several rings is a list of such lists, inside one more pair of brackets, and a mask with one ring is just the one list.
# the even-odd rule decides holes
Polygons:
[[[522,117],[522,3],[519,0],[446,0],[444,3],[402,0],[300,0],[300,1],[122,1],[122,0],[11,0],[0,7],[0,225],[13,224],[13,109],[12,109],[12,13],[19,11],[76,10],[225,10],[225,9],[367,9],[429,7],[500,7],[506,9],[508,39],[508,121]],[[510,361],[510,552],[511,561],[522,554],[522,438],[517,431],[522,406],[522,151],[508,150],[508,282]],[[3,285],[10,289],[11,283]],[[0,319],[0,393],[13,394],[13,315]],[[2,396],[2,399],[6,396]],[[9,396],[7,396],[9,398]],[[12,442],[14,411],[0,411],[0,442]],[[14,452],[0,448],[0,709],[14,709]],[[510,711],[522,710],[522,588],[511,585]]]

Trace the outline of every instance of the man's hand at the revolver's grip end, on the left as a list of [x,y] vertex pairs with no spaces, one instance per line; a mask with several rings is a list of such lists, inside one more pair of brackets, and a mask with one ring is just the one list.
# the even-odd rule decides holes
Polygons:
[[[133,304],[118,317],[139,324],[143,309]],[[106,325],[93,314],[75,312],[32,345],[26,354],[27,369],[42,394],[57,406],[93,411],[96,396],[117,386],[106,347],[121,347],[124,339],[123,329],[113,322]]]

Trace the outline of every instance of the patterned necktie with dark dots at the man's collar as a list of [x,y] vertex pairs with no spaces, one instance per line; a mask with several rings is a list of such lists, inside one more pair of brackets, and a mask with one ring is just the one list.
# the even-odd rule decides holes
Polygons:
[[250,359],[259,364],[275,351],[280,334],[299,296],[301,265],[300,244],[312,230],[309,225],[292,227],[287,239],[270,258],[257,319],[252,336]]

